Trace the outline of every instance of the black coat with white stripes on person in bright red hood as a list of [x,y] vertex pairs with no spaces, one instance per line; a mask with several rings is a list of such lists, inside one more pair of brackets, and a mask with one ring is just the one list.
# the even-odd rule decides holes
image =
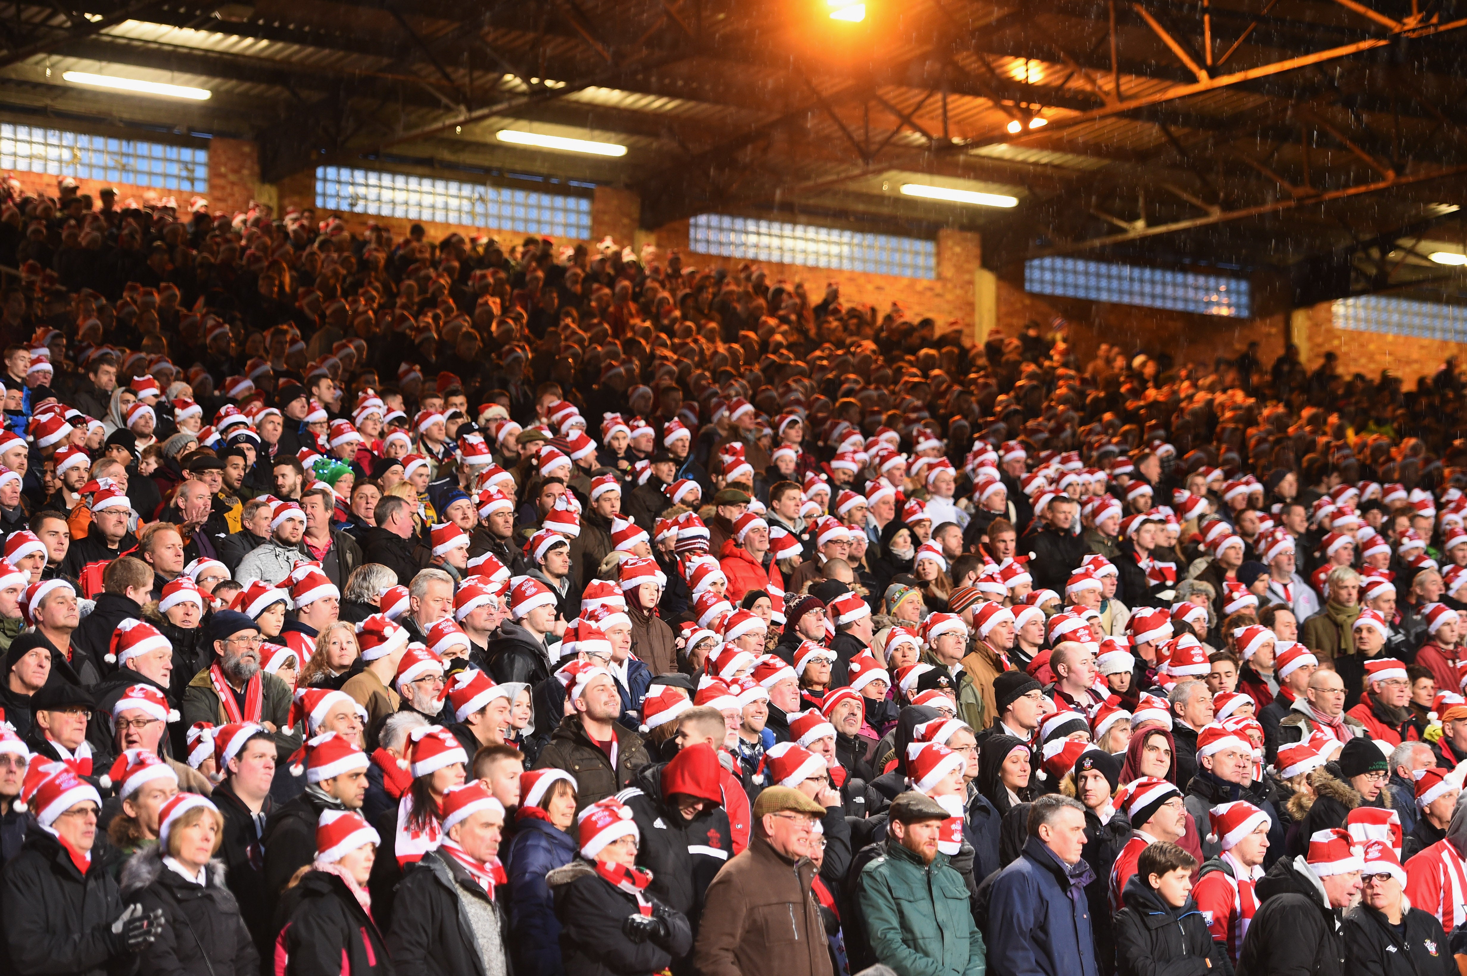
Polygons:
[[641,832],[637,866],[651,872],[647,895],[689,919],[698,919],[703,894],[734,856],[729,816],[722,806],[710,806],[691,821],[682,819],[662,794],[666,765],[644,766],[632,780],[632,787],[618,793],[616,799],[632,809]]

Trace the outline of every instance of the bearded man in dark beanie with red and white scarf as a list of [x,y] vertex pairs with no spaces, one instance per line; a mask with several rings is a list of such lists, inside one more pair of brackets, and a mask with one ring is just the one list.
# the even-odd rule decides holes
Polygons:
[[255,722],[274,736],[277,759],[285,762],[301,737],[290,728],[289,686],[260,668],[260,626],[239,611],[222,610],[208,632],[217,657],[183,692],[183,727]]

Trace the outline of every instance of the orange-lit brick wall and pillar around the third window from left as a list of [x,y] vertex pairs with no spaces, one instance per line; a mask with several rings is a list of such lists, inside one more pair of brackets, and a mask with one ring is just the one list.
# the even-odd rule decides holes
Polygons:
[[[739,258],[717,258],[688,251],[688,221],[676,221],[659,227],[650,239],[662,251],[678,249],[688,262],[698,268],[745,264]],[[873,305],[885,314],[892,303],[899,305],[911,321],[936,319],[939,328],[956,321],[965,336],[973,334],[974,321],[974,276],[978,271],[981,245],[977,234],[959,230],[937,233],[937,277],[899,278],[890,274],[861,271],[835,271],[808,268],[794,264],[758,262],[775,281],[804,283],[810,296],[820,300],[827,281],[841,286],[841,300],[846,305]]]

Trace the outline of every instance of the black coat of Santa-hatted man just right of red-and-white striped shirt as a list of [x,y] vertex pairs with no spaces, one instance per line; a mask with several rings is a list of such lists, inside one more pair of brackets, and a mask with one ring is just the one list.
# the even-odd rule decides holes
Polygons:
[[1344,976],[1339,910],[1303,857],[1281,857],[1254,888],[1259,910],[1238,951],[1238,976]]

